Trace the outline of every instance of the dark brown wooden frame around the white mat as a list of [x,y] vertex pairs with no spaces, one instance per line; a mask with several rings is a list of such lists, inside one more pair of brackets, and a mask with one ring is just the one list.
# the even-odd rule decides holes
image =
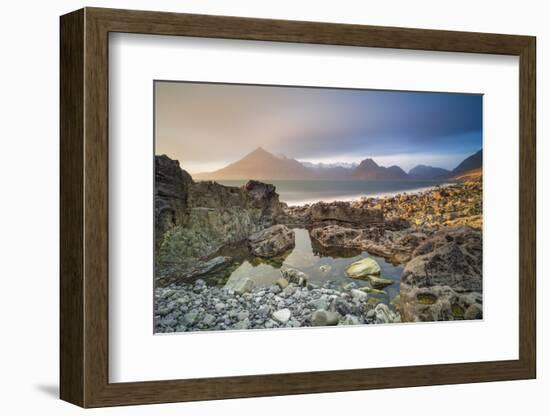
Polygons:
[[[519,56],[519,359],[109,383],[109,32]],[[530,36],[99,8],[62,16],[61,398],[100,407],[535,378],[535,45]]]

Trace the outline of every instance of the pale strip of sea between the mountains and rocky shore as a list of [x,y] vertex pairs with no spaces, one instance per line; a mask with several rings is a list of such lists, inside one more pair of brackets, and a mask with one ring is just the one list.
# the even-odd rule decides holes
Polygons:
[[[216,181],[227,186],[241,186],[246,180]],[[265,182],[265,181],[264,181]],[[284,180],[267,181],[277,188],[280,200],[289,205],[318,201],[349,201],[361,197],[391,196],[402,192],[418,192],[455,181],[365,181],[365,180]]]

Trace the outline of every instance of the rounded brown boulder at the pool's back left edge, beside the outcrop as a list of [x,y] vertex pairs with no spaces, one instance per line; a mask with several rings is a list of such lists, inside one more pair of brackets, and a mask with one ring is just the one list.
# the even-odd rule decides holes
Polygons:
[[294,248],[294,231],[285,225],[274,225],[248,237],[252,254],[258,257],[275,257]]

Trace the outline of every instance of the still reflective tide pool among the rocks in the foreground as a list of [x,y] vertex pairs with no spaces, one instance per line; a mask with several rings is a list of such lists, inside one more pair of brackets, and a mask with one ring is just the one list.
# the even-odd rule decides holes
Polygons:
[[[381,277],[393,280],[395,283],[384,290],[387,295],[376,295],[383,302],[389,303],[399,294],[399,283],[403,267],[394,266],[383,258],[372,256],[360,250],[327,251],[315,244],[305,229],[294,229],[296,246],[284,259],[265,261],[248,254],[246,247],[226,248],[220,254],[231,256],[235,262],[229,270],[201,276],[208,284],[224,286],[227,282],[251,278],[257,287],[269,287],[281,277],[281,267],[291,267],[306,273],[312,283],[322,285],[327,280],[339,285],[355,282],[358,287],[369,286],[367,281],[351,279],[346,276],[345,269],[354,261],[364,257],[375,259],[382,272]],[[325,269],[322,270],[321,266]],[[375,295],[371,295],[375,296]]]

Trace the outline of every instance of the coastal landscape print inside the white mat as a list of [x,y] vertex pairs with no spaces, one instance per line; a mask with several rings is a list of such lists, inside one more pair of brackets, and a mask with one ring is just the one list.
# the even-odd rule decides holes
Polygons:
[[482,319],[482,95],[154,98],[155,333]]

